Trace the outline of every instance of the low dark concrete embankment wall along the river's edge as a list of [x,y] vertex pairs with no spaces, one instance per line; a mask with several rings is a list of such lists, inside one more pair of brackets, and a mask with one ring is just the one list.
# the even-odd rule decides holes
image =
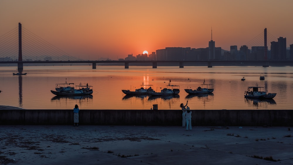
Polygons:
[[[0,125],[72,125],[73,110],[0,110]],[[180,126],[181,110],[81,110],[80,125]],[[293,110],[193,110],[193,126],[293,126]]]

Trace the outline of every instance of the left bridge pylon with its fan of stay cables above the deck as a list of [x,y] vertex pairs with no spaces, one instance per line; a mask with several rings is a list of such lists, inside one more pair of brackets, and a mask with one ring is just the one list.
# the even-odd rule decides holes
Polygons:
[[19,51],[21,51],[24,61],[78,60],[78,58],[67,54],[22,27],[21,23],[18,24],[18,27],[0,36],[0,58],[4,59],[4,61],[18,60]]

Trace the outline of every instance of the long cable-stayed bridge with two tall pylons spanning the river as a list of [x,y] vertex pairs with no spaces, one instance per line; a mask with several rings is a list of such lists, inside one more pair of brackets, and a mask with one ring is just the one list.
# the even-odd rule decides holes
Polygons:
[[[263,33],[253,38],[246,45],[248,47],[261,46],[261,43],[267,40],[267,33],[265,29],[265,39],[263,40]],[[275,37],[269,35],[269,39],[273,40]],[[267,47],[266,47],[267,48]],[[266,57],[266,55],[265,55]],[[289,61],[287,61],[288,63]],[[151,63],[153,68],[157,68],[157,63],[178,63],[179,68],[184,67],[184,63],[206,63],[209,68],[216,63],[225,63],[226,65],[239,64],[239,61],[81,61],[74,56],[67,54],[56,46],[48,43],[41,37],[37,36],[28,29],[22,27],[18,23],[18,27],[0,36],[0,63],[17,63],[18,70],[23,70],[25,63],[92,63],[93,69],[96,69],[96,63],[124,63],[125,68],[129,68],[129,63]],[[269,66],[268,61],[245,61],[245,63],[261,64],[264,67]],[[272,61],[270,62],[272,63]],[[277,62],[279,63],[279,62]]]

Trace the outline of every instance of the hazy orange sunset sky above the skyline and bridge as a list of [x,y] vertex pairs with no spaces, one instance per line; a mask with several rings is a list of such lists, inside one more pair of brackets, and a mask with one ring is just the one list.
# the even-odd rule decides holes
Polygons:
[[[0,36],[22,26],[75,57],[125,58],[166,47],[293,44],[293,0],[0,0]],[[268,40],[270,41],[270,40]],[[248,45],[254,46],[254,45]],[[255,45],[255,46],[263,46]]]

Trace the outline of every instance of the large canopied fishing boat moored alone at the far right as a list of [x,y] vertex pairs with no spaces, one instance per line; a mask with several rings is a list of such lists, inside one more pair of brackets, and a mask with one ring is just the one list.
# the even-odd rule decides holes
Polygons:
[[277,93],[267,93],[263,89],[264,87],[259,87],[258,84],[248,87],[244,92],[244,98],[272,99],[277,95]]

